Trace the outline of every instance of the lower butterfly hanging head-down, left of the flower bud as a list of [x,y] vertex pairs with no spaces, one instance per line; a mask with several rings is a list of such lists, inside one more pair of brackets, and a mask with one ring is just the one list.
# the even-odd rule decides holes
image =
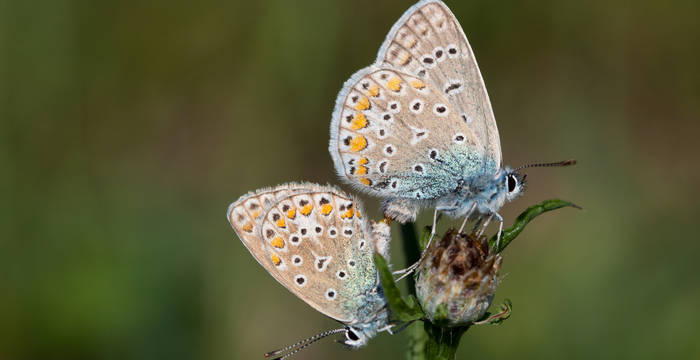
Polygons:
[[[369,222],[352,196],[331,186],[289,183],[241,196],[226,213],[255,260],[320,313],[345,325],[266,356],[283,356],[336,333],[361,347],[389,330],[388,307],[373,262],[388,258],[390,228]],[[296,348],[296,349],[295,349]]]

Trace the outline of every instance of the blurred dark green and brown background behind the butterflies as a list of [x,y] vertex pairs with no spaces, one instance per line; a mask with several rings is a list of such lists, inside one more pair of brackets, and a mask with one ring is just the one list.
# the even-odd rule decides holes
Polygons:
[[[262,186],[339,182],[335,96],[412,4],[0,0],[0,358],[258,359],[335,326],[224,213]],[[508,248],[496,301],[514,314],[460,358],[700,357],[698,2],[448,5],[505,162],[579,160],[528,171],[506,224],[547,198],[585,208]],[[298,357],[400,358],[406,339]]]

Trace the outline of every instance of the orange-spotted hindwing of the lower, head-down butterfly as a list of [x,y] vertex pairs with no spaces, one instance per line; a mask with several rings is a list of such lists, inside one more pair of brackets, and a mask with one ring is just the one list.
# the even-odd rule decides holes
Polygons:
[[271,206],[261,224],[270,274],[319,312],[356,319],[377,283],[373,242],[359,204],[330,187],[297,193]]

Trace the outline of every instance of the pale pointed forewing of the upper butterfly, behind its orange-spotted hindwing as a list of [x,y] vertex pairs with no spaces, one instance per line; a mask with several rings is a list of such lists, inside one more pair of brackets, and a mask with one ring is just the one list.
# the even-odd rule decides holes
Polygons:
[[447,95],[483,153],[501,166],[498,128],[479,66],[462,26],[442,1],[424,0],[408,9],[389,32],[376,64],[422,74]]

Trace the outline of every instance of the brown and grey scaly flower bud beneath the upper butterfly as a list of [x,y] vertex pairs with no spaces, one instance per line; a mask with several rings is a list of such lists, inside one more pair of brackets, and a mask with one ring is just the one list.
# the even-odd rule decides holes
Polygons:
[[416,295],[432,322],[468,325],[484,316],[498,287],[503,258],[486,237],[454,229],[435,242],[421,264]]

